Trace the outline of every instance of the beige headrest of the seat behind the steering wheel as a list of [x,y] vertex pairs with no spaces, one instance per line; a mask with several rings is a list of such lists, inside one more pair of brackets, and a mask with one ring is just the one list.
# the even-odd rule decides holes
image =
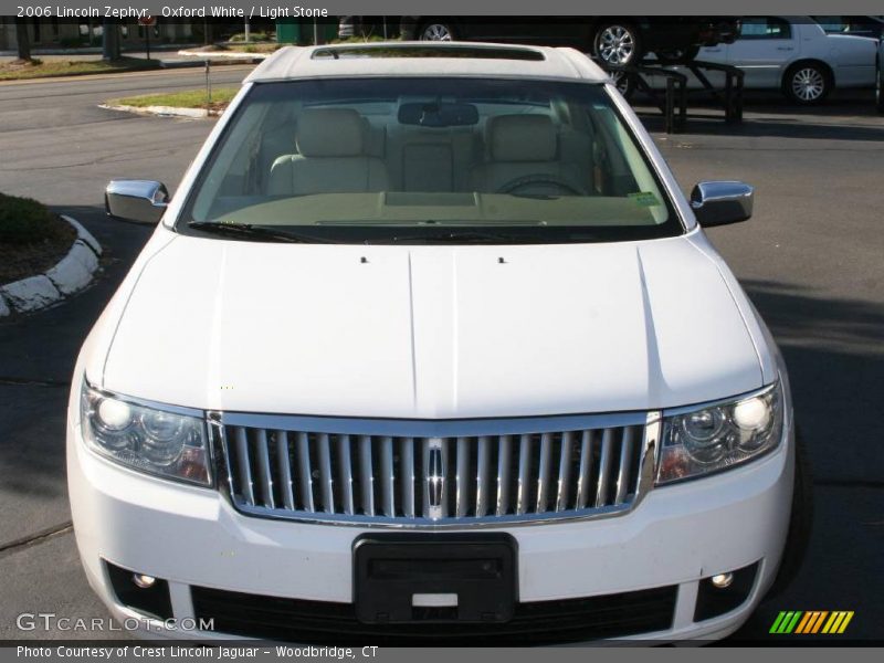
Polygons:
[[547,115],[498,115],[488,118],[493,161],[552,161],[556,130]]

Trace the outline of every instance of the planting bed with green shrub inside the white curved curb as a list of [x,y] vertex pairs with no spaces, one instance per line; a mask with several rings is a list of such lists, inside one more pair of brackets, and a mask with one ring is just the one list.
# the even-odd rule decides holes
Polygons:
[[0,193],[0,284],[42,274],[75,239],[74,229],[44,204]]

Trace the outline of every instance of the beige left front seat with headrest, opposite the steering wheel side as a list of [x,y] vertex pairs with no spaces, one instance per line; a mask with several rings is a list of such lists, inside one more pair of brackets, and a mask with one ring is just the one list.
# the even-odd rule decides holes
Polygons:
[[297,120],[298,154],[283,155],[271,167],[267,193],[305,196],[385,191],[387,167],[366,154],[365,126],[351,108],[306,109]]

